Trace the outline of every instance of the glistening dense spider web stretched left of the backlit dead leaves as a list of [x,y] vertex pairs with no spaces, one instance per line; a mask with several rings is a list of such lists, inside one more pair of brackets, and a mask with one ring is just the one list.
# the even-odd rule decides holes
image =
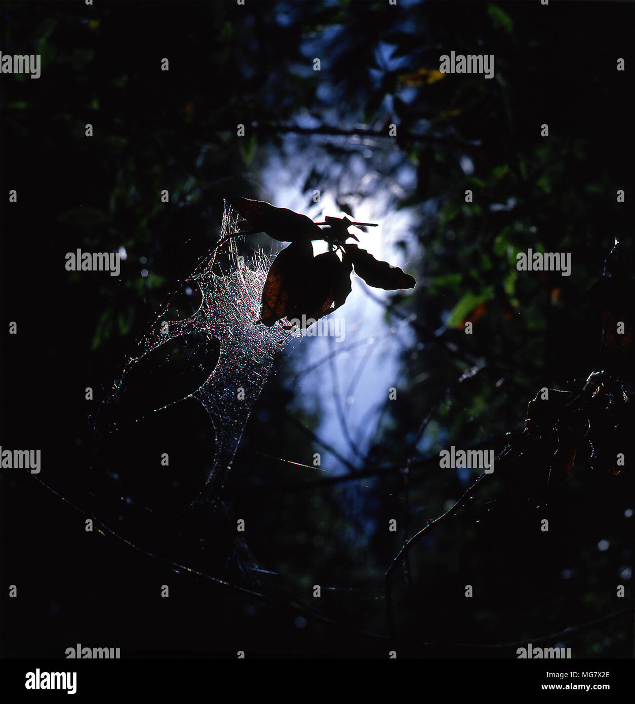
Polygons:
[[[170,320],[170,303],[139,341],[139,353],[127,360],[115,393],[125,377],[149,353],[185,336],[198,335],[220,344],[218,362],[205,381],[184,398],[196,398],[207,411],[215,430],[213,465],[207,477],[208,498],[222,489],[239,445],[251,408],[272,370],[276,353],[292,337],[280,325],[255,325],[260,312],[260,292],[272,257],[258,249],[251,266],[239,258],[237,241],[240,216],[225,204],[217,246],[196,267],[188,283],[198,287],[201,304],[189,318]],[[217,263],[222,264],[217,266]],[[224,271],[223,271],[224,270]],[[167,314],[167,315],[166,315]],[[167,408],[171,403],[153,409]]]

